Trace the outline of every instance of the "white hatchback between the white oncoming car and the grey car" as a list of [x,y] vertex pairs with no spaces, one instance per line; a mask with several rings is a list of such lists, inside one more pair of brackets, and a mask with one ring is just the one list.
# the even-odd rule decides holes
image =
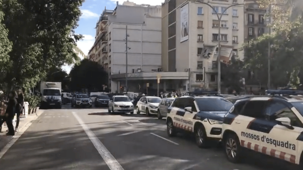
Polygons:
[[155,96],[144,96],[138,101],[136,106],[136,113],[146,113],[147,116],[150,114],[158,114],[158,107],[161,102],[160,97]]

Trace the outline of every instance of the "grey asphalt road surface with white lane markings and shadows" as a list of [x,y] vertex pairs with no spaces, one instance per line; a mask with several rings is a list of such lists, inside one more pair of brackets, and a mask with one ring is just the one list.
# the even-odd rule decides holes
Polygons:
[[165,119],[109,115],[107,109],[45,110],[0,159],[5,170],[295,170],[248,152],[228,162],[219,146],[199,149],[190,136],[169,138]]

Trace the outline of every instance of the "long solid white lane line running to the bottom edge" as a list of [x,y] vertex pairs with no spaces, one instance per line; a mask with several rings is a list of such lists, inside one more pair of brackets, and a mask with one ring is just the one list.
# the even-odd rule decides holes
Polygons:
[[103,158],[104,162],[107,164],[108,168],[111,170],[124,170],[115,157],[106,149],[103,143],[97,138],[97,136],[92,132],[89,127],[82,121],[82,119],[75,113],[72,112],[78,123],[82,126],[88,138],[92,141],[93,145],[99,152],[100,156]]

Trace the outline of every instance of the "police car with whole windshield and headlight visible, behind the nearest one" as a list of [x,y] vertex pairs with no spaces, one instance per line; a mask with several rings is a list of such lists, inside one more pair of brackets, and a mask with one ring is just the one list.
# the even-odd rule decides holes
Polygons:
[[217,92],[192,94],[176,98],[168,108],[167,133],[168,136],[175,136],[177,132],[194,133],[197,145],[200,148],[208,147],[212,139],[221,140],[223,118],[233,104],[216,95]]

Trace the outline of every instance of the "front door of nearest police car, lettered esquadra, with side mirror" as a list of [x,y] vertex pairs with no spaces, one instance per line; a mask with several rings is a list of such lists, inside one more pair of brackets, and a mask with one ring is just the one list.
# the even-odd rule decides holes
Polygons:
[[[266,109],[268,122],[273,125],[269,133],[261,132],[261,146],[271,150],[269,155],[280,158],[280,153],[289,162],[295,162],[295,155],[298,155],[298,136],[300,135],[303,124],[295,113],[280,101],[271,101]],[[283,126],[276,119],[288,117],[291,120],[291,126]],[[281,135],[282,134],[282,135]],[[281,158],[280,158],[281,159]]]

